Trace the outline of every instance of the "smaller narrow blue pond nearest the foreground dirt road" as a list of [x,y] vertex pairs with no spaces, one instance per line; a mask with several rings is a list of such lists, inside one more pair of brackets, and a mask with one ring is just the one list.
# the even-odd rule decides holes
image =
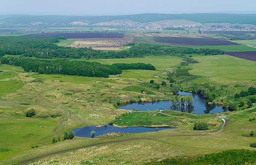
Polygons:
[[94,134],[94,137],[104,135],[106,133],[111,132],[121,132],[121,133],[143,133],[143,132],[153,132],[153,131],[159,131],[159,130],[166,130],[166,129],[175,129],[176,127],[115,127],[112,125],[106,125],[102,127],[96,127],[94,126],[87,126],[87,127],[81,127],[74,129],[75,136],[79,137],[91,137],[90,133],[92,130],[94,130],[96,133]]

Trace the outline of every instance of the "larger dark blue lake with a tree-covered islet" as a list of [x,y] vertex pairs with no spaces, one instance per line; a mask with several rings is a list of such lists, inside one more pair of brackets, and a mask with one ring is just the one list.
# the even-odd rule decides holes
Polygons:
[[122,104],[120,108],[133,110],[137,109],[140,111],[156,110],[156,109],[170,109],[174,111],[195,113],[195,114],[209,114],[209,113],[219,113],[223,112],[221,105],[217,104],[207,104],[205,103],[205,98],[196,93],[180,92],[179,95],[189,95],[194,98],[194,104],[192,106],[175,106],[169,100],[157,101],[157,102],[135,102]]

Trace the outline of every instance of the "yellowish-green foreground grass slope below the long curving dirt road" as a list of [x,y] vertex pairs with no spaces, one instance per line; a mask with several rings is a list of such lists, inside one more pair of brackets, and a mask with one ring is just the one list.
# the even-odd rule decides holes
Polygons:
[[[182,159],[187,156],[201,156],[227,149],[252,149],[249,145],[256,140],[255,137],[241,136],[244,133],[249,134],[251,130],[251,128],[243,127],[252,126],[253,123],[249,123],[248,121],[233,120],[227,125],[224,134],[214,136],[162,137],[108,144],[50,156],[30,163],[30,165],[39,165],[42,163],[89,165],[115,165],[122,163],[135,165],[166,158]],[[236,127],[237,130],[234,130],[234,127]],[[175,131],[176,130],[164,130],[159,132],[171,135]],[[154,136],[153,133],[152,136]]]

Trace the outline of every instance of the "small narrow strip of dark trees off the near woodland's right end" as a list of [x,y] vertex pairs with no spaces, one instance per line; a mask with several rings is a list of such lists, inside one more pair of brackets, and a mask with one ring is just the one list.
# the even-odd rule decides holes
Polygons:
[[140,70],[156,70],[156,68],[150,63],[113,63],[115,67],[122,70],[140,69]]

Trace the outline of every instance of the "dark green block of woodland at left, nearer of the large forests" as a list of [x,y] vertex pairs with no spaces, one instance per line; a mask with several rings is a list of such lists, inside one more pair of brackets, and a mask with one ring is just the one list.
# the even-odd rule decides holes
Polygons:
[[40,74],[67,74],[90,77],[109,77],[112,74],[121,74],[122,70],[111,65],[102,65],[96,62],[69,61],[69,60],[39,60],[26,57],[4,57],[2,63],[22,67],[25,71]]

